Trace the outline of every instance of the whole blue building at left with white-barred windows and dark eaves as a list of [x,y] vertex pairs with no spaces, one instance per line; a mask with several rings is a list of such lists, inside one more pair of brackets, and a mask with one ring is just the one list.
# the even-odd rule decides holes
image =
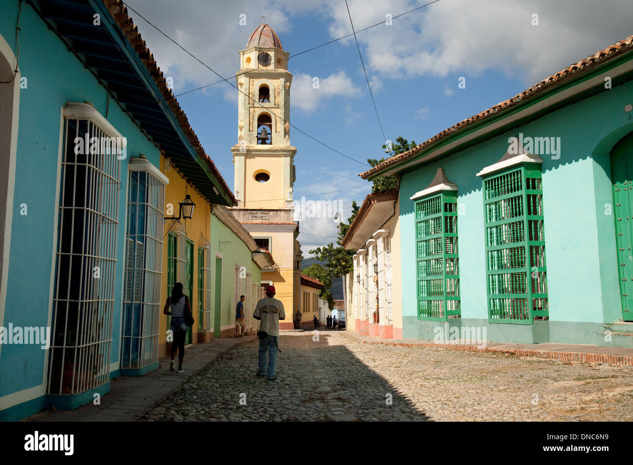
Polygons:
[[208,208],[235,198],[120,1],[0,11],[4,421],[158,366],[165,159]]

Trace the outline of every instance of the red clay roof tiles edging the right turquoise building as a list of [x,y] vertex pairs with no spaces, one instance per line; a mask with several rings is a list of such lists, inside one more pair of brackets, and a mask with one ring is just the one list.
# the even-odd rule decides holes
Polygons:
[[481,113],[478,113],[477,115],[471,116],[470,118],[467,118],[461,121],[460,123],[457,123],[456,125],[453,125],[450,128],[443,130],[440,133],[437,133],[426,142],[422,142],[422,144],[419,144],[418,146],[413,147],[413,149],[403,152],[401,154],[398,154],[396,156],[392,156],[391,158],[387,158],[382,163],[379,163],[376,166],[373,166],[373,168],[370,168],[369,170],[363,173],[360,173],[359,176],[362,177],[363,179],[367,179],[368,177],[375,175],[375,173],[378,173],[379,171],[382,171],[385,168],[388,168],[389,166],[398,164],[401,161],[404,161],[408,158],[415,156],[416,154],[418,154],[418,152],[422,151],[423,149],[426,149],[427,147],[432,146],[432,144],[435,144],[439,140],[444,139],[444,137],[447,137],[448,135],[453,134],[454,132],[458,130],[461,130],[469,125],[472,125],[472,123],[481,121],[484,118],[488,118],[489,116],[496,115],[499,111],[505,111],[510,108],[513,108],[513,106],[518,104],[518,102],[525,101],[526,99],[533,98],[534,96],[539,95],[542,92],[554,89],[556,86],[564,84],[565,82],[568,82],[572,78],[577,77],[579,73],[584,73],[585,71],[591,71],[598,64],[602,64],[606,60],[611,59],[618,54],[621,55],[622,53],[626,53],[627,51],[631,51],[631,50],[633,50],[633,35],[629,35],[629,37],[627,37],[626,39],[620,42],[615,42],[615,44],[608,46],[605,49],[599,52],[596,52],[593,55],[587,56],[586,59],[581,59],[577,63],[572,63],[572,65],[568,66],[567,68],[561,71],[558,71],[558,73],[549,76],[548,78],[542,80],[538,84],[533,85],[529,89],[523,90],[523,92],[521,92],[520,94],[517,94],[511,99],[508,99],[504,102],[500,102],[496,104],[495,106],[492,106],[491,108],[488,108],[487,110],[484,110]]

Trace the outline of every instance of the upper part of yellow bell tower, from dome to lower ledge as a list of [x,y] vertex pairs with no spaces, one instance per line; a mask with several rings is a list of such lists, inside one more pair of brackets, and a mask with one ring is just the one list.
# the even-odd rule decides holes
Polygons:
[[237,144],[232,147],[239,208],[292,208],[294,154],[290,145],[289,53],[267,24],[239,53]]

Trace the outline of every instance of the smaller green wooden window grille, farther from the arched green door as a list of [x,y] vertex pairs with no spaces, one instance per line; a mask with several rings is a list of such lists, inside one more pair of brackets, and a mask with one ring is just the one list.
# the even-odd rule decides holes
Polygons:
[[415,240],[418,319],[460,318],[456,192],[415,202]]

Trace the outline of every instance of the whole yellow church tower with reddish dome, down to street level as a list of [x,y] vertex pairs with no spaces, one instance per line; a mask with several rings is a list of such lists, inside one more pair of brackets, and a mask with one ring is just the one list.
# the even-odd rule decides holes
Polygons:
[[231,211],[275,266],[261,270],[261,283],[275,286],[286,318],[280,329],[292,329],[299,309],[301,248],[299,223],[293,221],[294,155],[290,145],[289,54],[279,37],[262,24],[239,53],[235,79],[238,97],[237,144],[231,148],[237,207]]

